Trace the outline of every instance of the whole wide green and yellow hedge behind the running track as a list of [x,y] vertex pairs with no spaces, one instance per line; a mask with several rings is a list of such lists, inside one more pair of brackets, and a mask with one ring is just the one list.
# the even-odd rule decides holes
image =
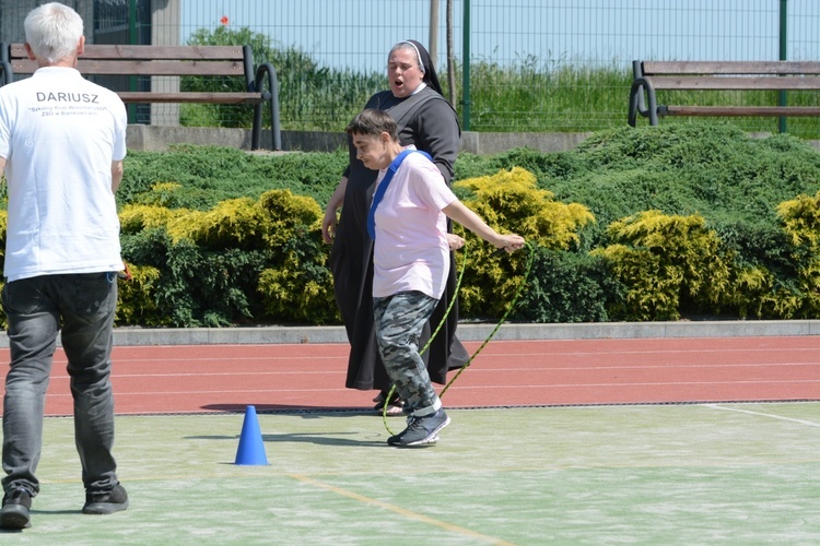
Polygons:
[[[347,151],[131,153],[119,324],[335,324],[321,211]],[[462,153],[457,194],[524,235],[513,320],[801,319],[820,311],[820,153],[723,124],[623,128],[576,150]],[[5,216],[0,215],[0,236]],[[527,256],[468,236],[461,316],[496,319]]]

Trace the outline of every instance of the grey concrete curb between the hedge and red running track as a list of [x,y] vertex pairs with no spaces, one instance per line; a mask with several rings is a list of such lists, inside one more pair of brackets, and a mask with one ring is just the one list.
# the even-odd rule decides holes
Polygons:
[[[484,341],[495,324],[460,324],[462,341]],[[504,324],[494,340],[598,340],[750,337],[820,335],[820,320],[794,321],[678,321],[601,322],[577,324]],[[266,345],[282,343],[348,343],[343,327],[257,327],[257,328],[121,328],[114,332],[118,346],[139,345]],[[0,337],[8,346],[8,337]]]

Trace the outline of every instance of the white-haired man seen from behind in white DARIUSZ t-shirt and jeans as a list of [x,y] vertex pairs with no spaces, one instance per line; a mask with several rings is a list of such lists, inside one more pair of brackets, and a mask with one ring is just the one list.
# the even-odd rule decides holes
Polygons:
[[9,190],[2,304],[11,365],[3,401],[0,527],[31,525],[39,492],[46,387],[57,335],[68,357],[84,513],[128,507],[112,455],[110,354],[124,269],[114,192],[126,156],[126,108],[75,69],[80,15],[52,2],[25,19],[32,78],[0,87],[0,173]]

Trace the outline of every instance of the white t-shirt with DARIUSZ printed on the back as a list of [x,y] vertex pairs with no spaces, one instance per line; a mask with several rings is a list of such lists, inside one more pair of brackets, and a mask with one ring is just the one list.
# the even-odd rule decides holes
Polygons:
[[124,269],[112,162],[126,156],[125,105],[71,68],[0,87],[9,281]]

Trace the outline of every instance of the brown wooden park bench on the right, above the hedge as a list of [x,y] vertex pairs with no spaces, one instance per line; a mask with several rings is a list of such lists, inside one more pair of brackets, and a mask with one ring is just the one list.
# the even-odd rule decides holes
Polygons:
[[815,106],[658,105],[657,91],[820,91],[813,61],[633,61],[629,124],[664,116],[820,116]]

